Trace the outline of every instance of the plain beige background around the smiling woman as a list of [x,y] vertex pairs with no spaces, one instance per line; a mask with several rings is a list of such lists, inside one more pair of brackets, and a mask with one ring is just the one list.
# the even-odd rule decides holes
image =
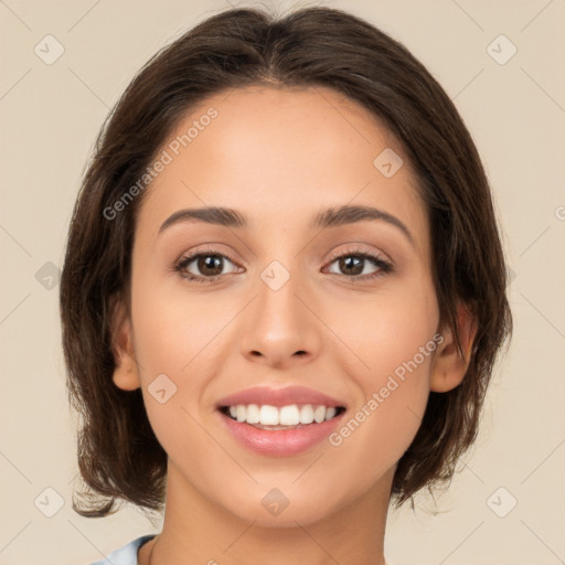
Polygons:
[[[267,3],[285,10],[306,2]],[[320,3],[404,42],[455,99],[492,181],[513,273],[514,340],[477,446],[437,505],[423,498],[416,512],[391,515],[387,555],[399,565],[563,563],[565,2]],[[64,388],[58,287],[45,288],[54,267],[44,265],[61,267],[83,168],[108,109],[159,47],[227,7],[0,2],[1,564],[81,565],[159,531],[134,508],[98,520],[71,509],[75,420]],[[53,65],[34,53],[47,34],[65,50]],[[500,34],[518,47],[504,65],[487,51]],[[495,49],[509,53],[509,45]],[[491,498],[500,487],[505,491]],[[56,510],[55,494],[34,504],[46,488],[64,502],[52,518],[40,508]],[[493,509],[508,511],[513,498],[518,505],[499,518]]]

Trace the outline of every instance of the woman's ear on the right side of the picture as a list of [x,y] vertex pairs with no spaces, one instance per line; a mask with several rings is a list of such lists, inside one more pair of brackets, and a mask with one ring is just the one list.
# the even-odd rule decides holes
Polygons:
[[469,362],[471,350],[477,334],[476,318],[467,305],[457,307],[457,331],[463,355],[459,352],[455,340],[455,333],[446,328],[441,332],[444,341],[438,345],[431,374],[429,388],[436,393],[446,393],[461,384]]

